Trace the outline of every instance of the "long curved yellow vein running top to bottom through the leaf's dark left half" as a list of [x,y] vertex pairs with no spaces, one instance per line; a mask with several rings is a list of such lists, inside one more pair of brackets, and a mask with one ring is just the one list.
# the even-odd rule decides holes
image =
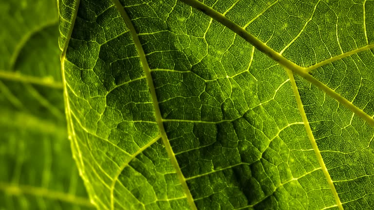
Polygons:
[[175,171],[176,171],[176,174],[178,176],[179,182],[181,183],[182,188],[183,188],[184,192],[186,193],[187,201],[188,201],[191,209],[192,210],[197,210],[197,208],[195,206],[195,203],[193,202],[191,192],[188,189],[186,178],[182,174],[181,168],[179,167],[178,161],[177,161],[177,159],[174,155],[174,152],[171,148],[170,142],[169,142],[168,137],[167,137],[166,132],[165,132],[160,107],[158,105],[156,89],[154,88],[154,84],[153,84],[153,80],[152,80],[152,76],[151,76],[151,72],[150,72],[150,67],[148,66],[148,62],[147,62],[147,59],[146,59],[146,54],[144,53],[142,44],[140,43],[139,37],[138,37],[138,35],[135,31],[134,26],[132,25],[131,19],[127,15],[125,9],[123,8],[123,6],[119,2],[119,0],[112,0],[112,2],[117,7],[118,11],[120,12],[120,14],[121,14],[122,18],[124,19],[127,27],[130,29],[132,39],[134,41],[136,50],[137,50],[137,52],[139,54],[139,57],[140,57],[140,62],[142,63],[144,73],[146,74],[146,77],[147,77],[147,83],[148,83],[148,86],[150,88],[150,94],[151,94],[151,97],[152,97],[153,107],[154,107],[154,110],[155,110],[156,121],[157,121],[158,127],[160,129],[161,139],[163,140],[166,151],[168,152],[168,157],[170,158],[171,164],[175,168]]

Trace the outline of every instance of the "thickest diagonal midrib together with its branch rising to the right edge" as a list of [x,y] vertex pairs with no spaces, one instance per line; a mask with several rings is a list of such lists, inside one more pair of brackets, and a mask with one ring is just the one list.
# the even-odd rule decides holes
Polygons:
[[244,38],[247,42],[252,44],[256,49],[261,51],[262,53],[269,56],[274,61],[278,62],[281,66],[285,67],[288,70],[291,70],[293,73],[299,74],[302,78],[307,80],[308,82],[312,83],[313,85],[317,86],[319,89],[324,91],[329,96],[336,99],[338,102],[340,102],[342,105],[345,105],[347,108],[349,108],[351,111],[353,111],[355,114],[360,116],[363,120],[365,120],[367,123],[374,126],[374,119],[373,117],[366,114],[362,109],[358,108],[357,106],[353,105],[350,101],[339,95],[337,92],[335,92],[333,89],[327,87],[325,84],[318,81],[316,78],[314,78],[312,75],[308,73],[310,70],[314,70],[318,67],[321,67],[323,65],[329,64],[333,61],[336,61],[338,59],[347,57],[349,55],[359,53],[368,49],[371,49],[374,47],[374,44],[367,45],[362,48],[358,48],[356,50],[342,53],[340,55],[337,55],[335,57],[332,57],[330,59],[327,59],[325,61],[322,61],[316,65],[313,65],[308,68],[300,67],[299,65],[293,63],[292,61],[286,59],[283,57],[280,53],[274,51],[269,46],[267,46],[265,43],[263,43],[261,40],[259,40],[257,37],[251,35],[249,32],[247,32],[243,27],[239,26],[235,22],[231,21],[230,19],[226,18],[221,13],[215,11],[214,9],[210,8],[206,4],[198,1],[198,0],[181,0],[182,2],[185,2],[186,4],[190,5],[193,8],[199,9],[209,17],[215,19],[216,21],[220,22],[236,34],[240,35],[242,38]]

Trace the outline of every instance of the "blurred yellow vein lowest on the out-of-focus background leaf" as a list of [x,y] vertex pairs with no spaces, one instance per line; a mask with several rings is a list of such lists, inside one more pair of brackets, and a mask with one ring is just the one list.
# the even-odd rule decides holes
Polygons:
[[66,203],[71,203],[79,206],[93,207],[93,204],[84,197],[78,197],[74,194],[68,194],[64,192],[52,191],[46,188],[27,186],[27,185],[15,185],[8,183],[0,183],[0,190],[11,195],[34,195],[53,200],[59,200]]

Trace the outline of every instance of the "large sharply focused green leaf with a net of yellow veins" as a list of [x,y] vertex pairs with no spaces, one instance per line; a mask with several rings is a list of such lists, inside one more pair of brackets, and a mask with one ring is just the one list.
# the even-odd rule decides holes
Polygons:
[[60,0],[102,210],[374,206],[374,1]]

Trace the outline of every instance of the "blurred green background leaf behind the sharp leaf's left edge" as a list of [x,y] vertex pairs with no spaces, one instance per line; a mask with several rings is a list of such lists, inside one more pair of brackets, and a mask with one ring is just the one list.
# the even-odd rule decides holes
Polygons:
[[56,2],[0,13],[0,210],[93,209],[66,131]]

